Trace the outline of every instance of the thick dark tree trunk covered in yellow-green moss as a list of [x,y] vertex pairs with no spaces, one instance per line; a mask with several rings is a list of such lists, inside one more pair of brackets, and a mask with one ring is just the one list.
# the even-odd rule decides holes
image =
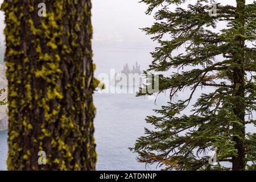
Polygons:
[[[46,16],[38,15],[39,3]],[[90,0],[5,0],[9,170],[94,170]],[[39,165],[38,152],[46,152]]]

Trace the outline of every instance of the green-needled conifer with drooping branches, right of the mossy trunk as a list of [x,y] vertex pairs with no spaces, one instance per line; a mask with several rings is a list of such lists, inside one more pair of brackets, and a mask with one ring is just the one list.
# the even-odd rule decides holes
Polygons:
[[[144,28],[159,43],[147,73],[166,72],[159,93],[170,92],[170,102],[146,118],[155,130],[146,129],[131,148],[139,162],[166,170],[256,169],[256,2],[213,1],[214,16],[209,1],[142,2],[147,14],[157,9],[156,22]],[[144,89],[138,96],[152,94]],[[209,163],[210,151],[217,165]]]

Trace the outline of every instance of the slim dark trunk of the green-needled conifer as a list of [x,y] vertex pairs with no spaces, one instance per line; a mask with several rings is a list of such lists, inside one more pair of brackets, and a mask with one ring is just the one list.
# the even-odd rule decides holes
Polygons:
[[[237,22],[241,23],[241,25],[245,25],[245,0],[237,0]],[[240,30],[240,34],[244,35],[244,26],[242,26]],[[244,50],[245,40],[242,36],[237,36],[236,43],[241,50]],[[241,123],[233,124],[234,131],[234,142],[236,142],[236,150],[237,156],[233,156],[232,158],[232,170],[240,171],[245,169],[245,68],[244,68],[244,56],[245,53],[242,51],[234,52],[233,54],[236,57],[240,57],[236,59],[236,67],[233,69],[233,111],[236,115],[238,121]]]

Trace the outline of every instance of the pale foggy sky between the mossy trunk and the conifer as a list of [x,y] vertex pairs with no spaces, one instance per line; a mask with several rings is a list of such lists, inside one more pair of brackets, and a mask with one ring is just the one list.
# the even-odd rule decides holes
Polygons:
[[139,28],[150,26],[154,19],[144,13],[147,6],[138,0],[92,0],[94,44],[145,44],[149,36]]

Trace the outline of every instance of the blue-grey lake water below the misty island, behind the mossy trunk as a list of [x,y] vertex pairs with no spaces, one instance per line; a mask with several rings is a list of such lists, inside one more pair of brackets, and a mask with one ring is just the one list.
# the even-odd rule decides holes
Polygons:
[[[98,170],[145,170],[138,163],[136,154],[130,152],[135,140],[144,133],[147,125],[144,118],[159,108],[166,98],[160,97],[157,105],[154,100],[135,97],[134,94],[95,94],[97,107],[95,137],[98,153]],[[7,131],[0,131],[0,170],[6,170]],[[155,169],[147,166],[147,170]]]

